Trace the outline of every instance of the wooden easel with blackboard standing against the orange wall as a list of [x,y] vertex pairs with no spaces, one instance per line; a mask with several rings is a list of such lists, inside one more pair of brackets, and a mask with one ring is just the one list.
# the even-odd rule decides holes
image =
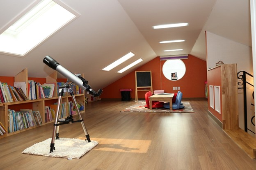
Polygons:
[[135,101],[138,101],[139,91],[153,93],[151,71],[135,71]]

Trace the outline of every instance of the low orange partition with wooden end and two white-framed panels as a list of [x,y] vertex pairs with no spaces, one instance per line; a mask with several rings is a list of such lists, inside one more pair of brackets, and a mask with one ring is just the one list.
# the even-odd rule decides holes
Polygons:
[[223,64],[207,72],[208,111],[223,129],[238,129],[237,65]]

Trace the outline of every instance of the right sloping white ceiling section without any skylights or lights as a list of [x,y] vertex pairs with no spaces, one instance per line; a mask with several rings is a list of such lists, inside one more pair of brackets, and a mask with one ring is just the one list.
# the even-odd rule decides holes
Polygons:
[[205,31],[251,47],[250,0],[217,0],[191,54],[206,60]]

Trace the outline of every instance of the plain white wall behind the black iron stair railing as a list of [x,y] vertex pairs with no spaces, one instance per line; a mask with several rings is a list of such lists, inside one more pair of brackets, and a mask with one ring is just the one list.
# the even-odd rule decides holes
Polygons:
[[[218,36],[209,31],[206,31],[207,43],[207,69],[215,67],[215,64],[222,60],[225,64],[237,63],[238,72],[246,71],[253,74],[252,65],[252,49],[247,45],[229,40],[222,36]],[[249,76],[248,76],[249,77]],[[248,78],[247,77],[247,78]],[[253,79],[248,80],[253,84]],[[239,86],[238,87],[242,87]],[[247,122],[248,128],[255,131],[255,127],[251,125],[251,117],[254,116],[254,103],[252,98],[253,87],[247,85]],[[243,110],[243,91],[238,89],[238,112],[239,112],[239,127],[244,129],[244,110]],[[254,135],[254,134],[252,134]]]

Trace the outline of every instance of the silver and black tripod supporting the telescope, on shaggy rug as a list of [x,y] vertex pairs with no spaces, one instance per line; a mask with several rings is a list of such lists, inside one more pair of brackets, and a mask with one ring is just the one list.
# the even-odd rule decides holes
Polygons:
[[[79,116],[79,120],[77,120],[77,121],[73,120],[73,116],[72,115],[68,116],[64,120],[60,120],[59,119],[59,116],[60,116],[59,115],[59,113],[60,113],[60,106],[62,104],[62,96],[63,96],[64,92],[69,92],[71,97],[72,97],[73,103],[75,104],[75,108],[76,108],[76,110],[78,112],[78,116]],[[55,137],[56,137],[56,140],[59,139],[59,125],[75,123],[75,122],[81,122],[82,128],[83,128],[83,130],[85,132],[85,136],[86,136],[85,141],[87,140],[88,142],[91,142],[90,136],[87,133],[87,130],[85,128],[85,124],[84,124],[83,121],[84,120],[82,119],[80,110],[78,108],[78,104],[77,104],[77,102],[75,100],[75,96],[74,96],[73,90],[69,86],[59,87],[59,96],[58,96],[58,103],[57,103],[57,114],[55,115],[55,122],[53,124],[54,128],[53,128],[52,141],[51,141],[51,144],[50,144],[50,153],[52,153],[53,150],[55,150],[55,147],[54,147]]]

